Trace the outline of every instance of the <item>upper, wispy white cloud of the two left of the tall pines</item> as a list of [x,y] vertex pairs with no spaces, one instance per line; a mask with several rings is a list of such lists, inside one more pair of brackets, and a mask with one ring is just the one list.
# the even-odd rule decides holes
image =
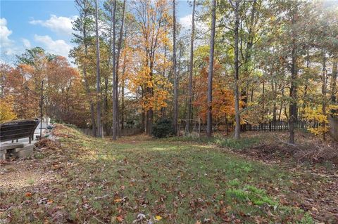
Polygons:
[[51,18],[48,20],[31,20],[30,24],[32,25],[42,25],[51,29],[51,31],[56,32],[61,35],[71,35],[73,32],[72,22],[77,18],[77,16],[72,17],[63,17],[51,15]]

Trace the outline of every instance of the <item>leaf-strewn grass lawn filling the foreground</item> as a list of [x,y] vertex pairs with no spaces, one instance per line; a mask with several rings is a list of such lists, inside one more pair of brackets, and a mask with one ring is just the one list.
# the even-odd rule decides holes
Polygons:
[[314,223],[294,188],[330,181],[177,138],[54,135],[1,164],[0,223]]

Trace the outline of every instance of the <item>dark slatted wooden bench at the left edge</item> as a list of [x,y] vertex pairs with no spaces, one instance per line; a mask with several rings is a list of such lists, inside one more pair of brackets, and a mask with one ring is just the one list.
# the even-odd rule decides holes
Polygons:
[[30,143],[34,138],[34,131],[39,125],[40,120],[15,120],[0,124],[0,142],[19,138],[29,138]]

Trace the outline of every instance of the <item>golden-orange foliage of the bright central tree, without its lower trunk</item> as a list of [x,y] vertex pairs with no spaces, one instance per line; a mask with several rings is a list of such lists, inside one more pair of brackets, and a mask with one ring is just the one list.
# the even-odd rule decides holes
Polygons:
[[142,90],[140,105],[144,110],[160,110],[166,107],[171,85],[164,71],[171,66],[170,60],[165,58],[163,48],[170,48],[168,31],[170,30],[170,4],[167,0],[137,1],[135,20],[139,32],[132,40],[134,45],[132,54],[132,72],[130,70],[130,90],[139,93]]

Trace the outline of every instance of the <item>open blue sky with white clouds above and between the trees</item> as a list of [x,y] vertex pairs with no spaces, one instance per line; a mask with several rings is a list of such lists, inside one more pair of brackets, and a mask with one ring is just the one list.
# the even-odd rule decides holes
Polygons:
[[[189,28],[192,7],[188,0],[177,0],[176,8],[177,22]],[[71,0],[0,0],[0,61],[12,63],[15,55],[35,46],[68,58],[74,46],[71,22],[76,17]]]

